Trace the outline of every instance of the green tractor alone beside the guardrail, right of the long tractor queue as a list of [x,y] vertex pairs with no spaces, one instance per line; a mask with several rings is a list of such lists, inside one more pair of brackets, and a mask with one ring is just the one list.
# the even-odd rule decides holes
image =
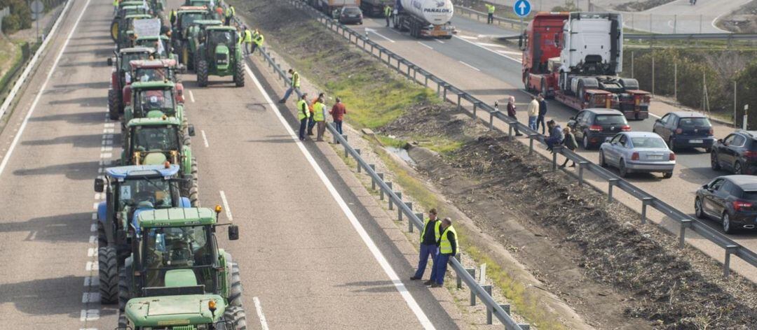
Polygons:
[[234,76],[237,87],[245,85],[245,64],[239,35],[232,26],[208,26],[197,52],[197,82],[207,86],[208,76]]

